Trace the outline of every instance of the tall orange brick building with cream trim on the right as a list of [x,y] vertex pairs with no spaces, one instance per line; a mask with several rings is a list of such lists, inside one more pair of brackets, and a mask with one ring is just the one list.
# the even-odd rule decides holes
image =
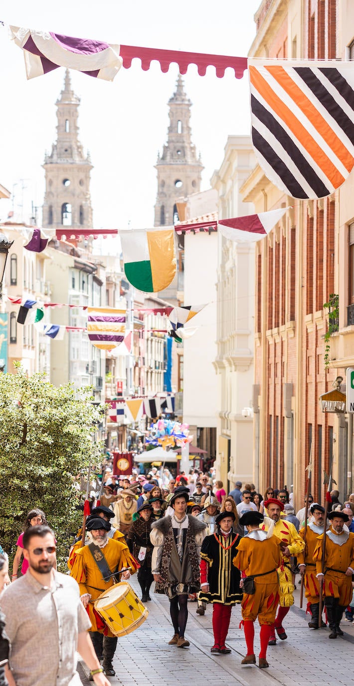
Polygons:
[[[346,1],[264,0],[255,14],[257,35],[249,56],[334,59],[344,57],[339,22]],[[350,183],[350,182],[349,182]],[[256,211],[289,206],[255,255],[255,465],[262,491],[294,485],[296,505],[305,491],[310,446],[311,490],[323,501],[323,470],[333,452],[338,488],[346,491],[346,420],[323,413],[319,397],[332,390],[338,370],[325,367],[327,312],[338,293],[338,194],[294,200],[257,165],[241,188]],[[352,215],[354,215],[354,208]],[[345,476],[344,476],[345,474]],[[255,478],[257,475],[255,473]],[[346,493],[345,493],[346,495]]]

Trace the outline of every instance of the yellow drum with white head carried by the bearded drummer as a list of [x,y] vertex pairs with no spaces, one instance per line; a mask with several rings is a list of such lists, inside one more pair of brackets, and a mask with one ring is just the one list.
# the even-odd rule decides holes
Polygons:
[[101,615],[115,636],[130,634],[143,624],[149,610],[125,581],[114,584],[94,601],[94,609]]

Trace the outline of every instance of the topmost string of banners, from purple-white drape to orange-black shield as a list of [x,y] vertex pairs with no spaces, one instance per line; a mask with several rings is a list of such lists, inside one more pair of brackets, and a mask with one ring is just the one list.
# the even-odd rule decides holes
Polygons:
[[201,76],[213,65],[218,78],[228,67],[236,78],[242,78],[248,69],[253,147],[258,163],[273,184],[299,200],[325,198],[344,183],[353,169],[351,61],[247,59],[112,45],[16,26],[9,29],[10,38],[23,50],[28,79],[66,67],[112,81],[122,66],[131,67],[134,58],[140,59],[144,71],[157,60],[164,73],[173,62],[181,74],[190,64],[196,64]]

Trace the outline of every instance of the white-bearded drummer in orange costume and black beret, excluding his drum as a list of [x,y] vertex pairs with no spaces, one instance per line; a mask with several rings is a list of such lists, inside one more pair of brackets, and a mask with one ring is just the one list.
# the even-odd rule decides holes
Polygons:
[[[129,548],[121,541],[108,538],[111,525],[101,517],[94,517],[86,523],[88,530],[89,545],[77,549],[71,574],[80,588],[81,601],[87,608],[92,627],[90,637],[97,657],[103,657],[103,672],[106,676],[114,676],[112,659],[116,650],[117,638],[112,634],[103,619],[94,609],[94,600],[107,591],[115,583],[113,574],[116,569],[131,567],[131,572],[136,571],[136,562],[129,553]],[[125,571],[121,578],[129,579],[129,571]],[[108,578],[105,581],[105,578]],[[117,580],[119,575],[117,574]]]

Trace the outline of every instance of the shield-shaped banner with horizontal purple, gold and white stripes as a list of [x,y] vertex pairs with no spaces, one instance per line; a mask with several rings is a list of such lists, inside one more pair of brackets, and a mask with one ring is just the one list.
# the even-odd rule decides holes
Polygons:
[[101,350],[116,348],[125,337],[125,309],[88,307],[87,331],[92,345]]

